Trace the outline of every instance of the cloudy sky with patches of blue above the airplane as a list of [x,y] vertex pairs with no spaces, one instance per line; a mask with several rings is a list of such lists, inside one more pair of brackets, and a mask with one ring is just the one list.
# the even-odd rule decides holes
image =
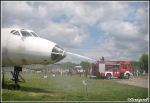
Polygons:
[[[149,53],[148,1],[1,2],[2,28],[30,29],[67,52],[106,61]],[[61,62],[93,62],[68,54]]]

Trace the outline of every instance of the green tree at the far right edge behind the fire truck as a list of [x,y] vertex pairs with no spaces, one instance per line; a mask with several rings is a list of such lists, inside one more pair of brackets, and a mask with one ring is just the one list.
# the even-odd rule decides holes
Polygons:
[[148,54],[142,54],[142,56],[140,57],[140,67],[141,69],[145,69],[148,70]]

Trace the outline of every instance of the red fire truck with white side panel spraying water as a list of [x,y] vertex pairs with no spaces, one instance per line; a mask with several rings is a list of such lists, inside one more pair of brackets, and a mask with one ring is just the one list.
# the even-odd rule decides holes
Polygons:
[[132,66],[128,61],[97,61],[92,63],[93,77],[129,79],[130,75],[132,75]]

